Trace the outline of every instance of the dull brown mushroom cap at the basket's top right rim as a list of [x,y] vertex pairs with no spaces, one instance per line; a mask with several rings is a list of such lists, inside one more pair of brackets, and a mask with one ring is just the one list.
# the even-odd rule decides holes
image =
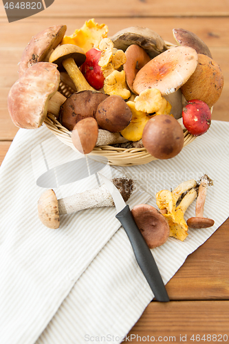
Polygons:
[[197,54],[204,54],[212,58],[208,46],[196,34],[184,29],[173,29],[173,36],[179,45],[193,47]]

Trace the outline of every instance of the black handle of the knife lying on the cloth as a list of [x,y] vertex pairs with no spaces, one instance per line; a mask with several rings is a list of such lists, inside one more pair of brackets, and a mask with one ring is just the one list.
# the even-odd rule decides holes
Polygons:
[[146,281],[149,283],[155,298],[157,301],[168,302],[168,294],[155,259],[153,258],[151,250],[146,244],[142,233],[135,224],[129,206],[125,206],[122,211],[116,215],[116,218],[120,221],[129,237],[135,258],[138,261],[138,265],[140,266]]

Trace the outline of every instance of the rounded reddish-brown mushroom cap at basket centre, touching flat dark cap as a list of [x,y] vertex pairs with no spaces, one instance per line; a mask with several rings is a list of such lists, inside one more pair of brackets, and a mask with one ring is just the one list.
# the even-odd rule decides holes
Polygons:
[[96,111],[96,120],[102,129],[118,133],[131,122],[132,112],[121,96],[109,96]]

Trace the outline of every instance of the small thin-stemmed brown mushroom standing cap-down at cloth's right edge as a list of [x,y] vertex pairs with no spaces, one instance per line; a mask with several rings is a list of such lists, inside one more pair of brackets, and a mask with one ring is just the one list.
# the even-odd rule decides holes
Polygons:
[[195,207],[195,217],[190,217],[187,219],[187,224],[190,228],[208,228],[215,224],[213,219],[204,217],[204,203],[209,184],[212,184],[212,180],[209,180],[208,176],[204,175],[204,177],[201,178],[201,183],[199,184],[199,193]]

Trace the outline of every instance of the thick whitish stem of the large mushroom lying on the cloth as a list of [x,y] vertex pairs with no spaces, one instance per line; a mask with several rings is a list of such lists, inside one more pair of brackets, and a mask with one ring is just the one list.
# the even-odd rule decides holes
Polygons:
[[59,215],[72,214],[83,209],[114,206],[111,194],[105,185],[58,200]]

